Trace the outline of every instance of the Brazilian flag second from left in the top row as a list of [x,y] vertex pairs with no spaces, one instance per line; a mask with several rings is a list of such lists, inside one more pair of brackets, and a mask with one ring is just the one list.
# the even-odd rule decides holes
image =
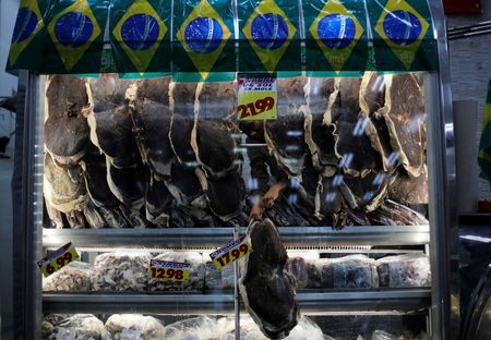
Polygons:
[[107,21],[107,1],[52,3],[40,73],[98,73]]

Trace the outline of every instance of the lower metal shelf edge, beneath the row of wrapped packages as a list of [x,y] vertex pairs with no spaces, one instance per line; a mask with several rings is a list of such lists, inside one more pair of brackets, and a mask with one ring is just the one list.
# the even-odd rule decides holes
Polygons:
[[[360,312],[409,313],[429,308],[431,290],[384,289],[351,291],[299,291],[297,300],[304,314]],[[243,306],[242,306],[243,308]],[[48,313],[144,313],[144,314],[233,314],[233,294],[127,294],[45,293]]]

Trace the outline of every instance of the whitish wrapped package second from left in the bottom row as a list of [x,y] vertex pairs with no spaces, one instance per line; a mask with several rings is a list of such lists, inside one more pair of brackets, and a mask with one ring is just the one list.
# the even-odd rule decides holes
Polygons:
[[164,325],[152,316],[113,314],[104,326],[101,340],[161,340]]

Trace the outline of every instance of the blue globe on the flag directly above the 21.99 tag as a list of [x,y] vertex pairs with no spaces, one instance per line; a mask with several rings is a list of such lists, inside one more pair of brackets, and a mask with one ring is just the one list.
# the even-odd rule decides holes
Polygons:
[[259,47],[275,50],[288,38],[288,25],[279,14],[261,14],[252,21],[251,35]]

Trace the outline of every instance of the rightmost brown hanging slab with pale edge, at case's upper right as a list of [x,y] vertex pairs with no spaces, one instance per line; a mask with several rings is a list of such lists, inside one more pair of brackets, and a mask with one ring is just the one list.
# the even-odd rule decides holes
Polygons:
[[391,146],[407,173],[417,178],[424,165],[424,105],[421,87],[414,74],[387,74],[385,106],[376,114],[388,129]]

